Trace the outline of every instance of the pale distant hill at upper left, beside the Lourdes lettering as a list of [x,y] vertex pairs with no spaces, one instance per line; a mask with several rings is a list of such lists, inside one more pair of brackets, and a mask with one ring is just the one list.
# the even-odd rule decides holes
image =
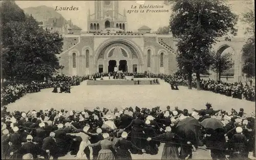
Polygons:
[[29,14],[29,15],[32,14],[32,16],[37,21],[45,21],[47,20],[47,18],[62,17],[62,15],[56,12],[54,8],[47,7],[47,6],[29,7],[23,10],[26,14]]

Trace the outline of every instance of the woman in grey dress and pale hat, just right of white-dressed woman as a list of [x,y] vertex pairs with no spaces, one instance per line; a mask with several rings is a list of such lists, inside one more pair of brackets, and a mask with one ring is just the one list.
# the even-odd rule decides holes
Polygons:
[[101,150],[99,151],[97,159],[115,159],[115,156],[112,152],[112,149],[114,149],[115,146],[109,140],[110,135],[108,133],[104,133],[102,136],[103,140],[94,144],[89,144],[88,146],[101,146]]

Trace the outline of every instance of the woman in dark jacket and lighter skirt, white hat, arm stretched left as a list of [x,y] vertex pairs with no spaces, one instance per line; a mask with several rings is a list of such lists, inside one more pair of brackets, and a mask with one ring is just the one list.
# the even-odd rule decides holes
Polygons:
[[176,134],[172,133],[172,128],[170,126],[166,127],[164,134],[153,138],[147,138],[147,141],[151,140],[165,143],[161,159],[179,159],[179,138]]

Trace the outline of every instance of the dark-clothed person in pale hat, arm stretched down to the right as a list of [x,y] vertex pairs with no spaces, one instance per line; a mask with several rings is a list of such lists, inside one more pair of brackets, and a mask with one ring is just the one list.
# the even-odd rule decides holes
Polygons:
[[145,152],[144,149],[140,149],[130,141],[127,141],[128,134],[127,132],[123,131],[121,135],[122,139],[119,140],[115,147],[117,148],[117,159],[132,159],[131,153],[129,149],[136,148],[137,150],[141,150],[141,152]]

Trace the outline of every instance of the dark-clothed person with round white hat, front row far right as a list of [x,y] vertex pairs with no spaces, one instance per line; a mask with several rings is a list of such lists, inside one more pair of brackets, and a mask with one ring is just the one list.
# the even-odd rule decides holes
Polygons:
[[[247,140],[245,135],[243,135],[243,128],[237,127],[236,128],[237,134],[233,135],[231,139],[231,148],[233,150],[233,153],[230,155],[230,158],[232,159],[247,159],[248,153],[247,153]],[[246,155],[247,154],[247,155]]]

